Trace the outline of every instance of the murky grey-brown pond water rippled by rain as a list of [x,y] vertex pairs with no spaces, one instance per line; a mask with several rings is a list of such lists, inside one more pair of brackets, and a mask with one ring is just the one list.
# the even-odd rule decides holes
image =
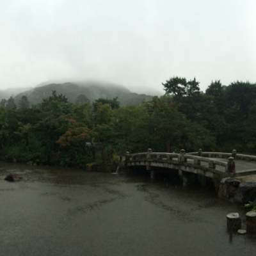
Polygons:
[[[22,182],[7,182],[9,172]],[[243,209],[179,180],[0,164],[0,255],[255,255]],[[243,227],[245,220],[243,218]]]

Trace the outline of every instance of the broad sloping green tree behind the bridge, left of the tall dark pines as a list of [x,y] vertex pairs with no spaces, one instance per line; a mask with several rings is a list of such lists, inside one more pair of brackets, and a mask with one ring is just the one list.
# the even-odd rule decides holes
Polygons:
[[177,152],[181,148],[198,150],[198,147],[208,149],[215,147],[211,132],[180,113],[172,97],[168,95],[154,97],[150,108],[154,109],[150,120],[151,140],[157,151]]

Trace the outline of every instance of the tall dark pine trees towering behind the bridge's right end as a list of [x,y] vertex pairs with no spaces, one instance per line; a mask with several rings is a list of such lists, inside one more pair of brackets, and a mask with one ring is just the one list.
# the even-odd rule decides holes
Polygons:
[[[216,150],[256,153],[256,84],[236,81],[228,86],[212,81],[205,93],[198,82],[172,77],[164,83],[166,92],[189,120],[202,124],[216,139]],[[178,92],[178,93],[177,93]]]

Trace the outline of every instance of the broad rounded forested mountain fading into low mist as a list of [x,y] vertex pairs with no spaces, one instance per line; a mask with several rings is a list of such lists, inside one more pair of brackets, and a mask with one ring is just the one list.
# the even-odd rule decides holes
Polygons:
[[[121,106],[131,106],[141,103],[144,99],[151,100],[151,95],[132,93],[120,84],[108,83],[104,81],[77,81],[76,83],[50,83],[38,84],[35,88],[19,93],[14,97],[15,102],[19,102],[23,95],[28,97],[30,104],[38,104],[42,99],[52,95],[52,90],[56,90],[57,95],[63,94],[69,102],[76,102],[77,96],[86,95],[90,101],[99,98],[113,99],[118,97]],[[6,99],[6,98],[5,98]]]

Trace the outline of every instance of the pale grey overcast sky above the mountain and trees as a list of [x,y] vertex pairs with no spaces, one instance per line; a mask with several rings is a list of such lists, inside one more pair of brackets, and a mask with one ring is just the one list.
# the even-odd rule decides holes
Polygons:
[[155,88],[256,82],[255,0],[0,0],[0,89],[50,79]]

